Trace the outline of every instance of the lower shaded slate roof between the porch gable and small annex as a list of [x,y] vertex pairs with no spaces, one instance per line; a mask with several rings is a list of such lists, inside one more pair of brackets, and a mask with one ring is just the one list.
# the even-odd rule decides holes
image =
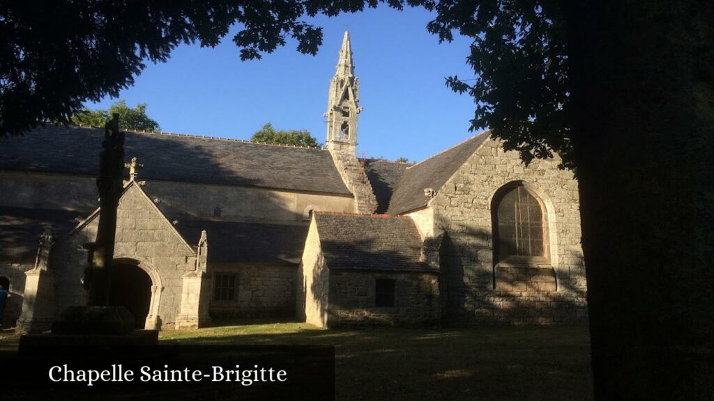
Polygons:
[[176,230],[192,245],[208,237],[209,263],[300,263],[306,225],[236,223],[211,220],[179,220]]

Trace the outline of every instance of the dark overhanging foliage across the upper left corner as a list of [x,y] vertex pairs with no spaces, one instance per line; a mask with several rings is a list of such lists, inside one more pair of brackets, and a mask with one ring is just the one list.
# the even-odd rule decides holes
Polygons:
[[[303,15],[363,9],[362,1],[10,1],[0,7],[0,136],[43,121],[70,123],[86,101],[134,83],[146,61],[179,44],[213,47],[240,27],[241,59],[286,44],[316,54],[322,31]],[[58,77],[61,77],[59,79]]]

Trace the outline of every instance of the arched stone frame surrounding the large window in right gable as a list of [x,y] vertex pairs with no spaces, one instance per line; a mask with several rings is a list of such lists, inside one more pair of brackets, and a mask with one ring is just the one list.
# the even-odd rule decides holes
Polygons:
[[[498,208],[509,193],[515,191],[518,188],[523,188],[530,196],[532,196],[540,205],[540,213],[543,218],[543,255],[540,256],[527,256],[527,255],[502,255],[499,243],[499,228],[498,228]],[[550,251],[552,238],[550,235],[550,221],[548,208],[540,196],[538,191],[536,191],[533,184],[526,181],[511,181],[505,185],[498,188],[496,193],[493,195],[491,200],[491,232],[493,235],[493,262],[494,267],[496,265],[508,266],[508,265],[545,265],[550,266]]]

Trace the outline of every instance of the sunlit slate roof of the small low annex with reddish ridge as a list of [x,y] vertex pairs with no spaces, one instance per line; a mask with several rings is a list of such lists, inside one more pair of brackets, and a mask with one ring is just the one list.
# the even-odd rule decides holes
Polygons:
[[421,238],[410,218],[321,212],[314,218],[330,269],[437,271],[419,260]]

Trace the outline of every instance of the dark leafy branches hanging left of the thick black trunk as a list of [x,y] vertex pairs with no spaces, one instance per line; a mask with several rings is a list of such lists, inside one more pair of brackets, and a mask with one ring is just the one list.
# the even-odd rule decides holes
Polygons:
[[466,61],[476,80],[447,78],[477,101],[471,130],[491,128],[523,161],[557,151],[573,166],[568,125],[568,58],[563,13],[553,0],[440,1],[427,29],[440,41],[473,39]]

